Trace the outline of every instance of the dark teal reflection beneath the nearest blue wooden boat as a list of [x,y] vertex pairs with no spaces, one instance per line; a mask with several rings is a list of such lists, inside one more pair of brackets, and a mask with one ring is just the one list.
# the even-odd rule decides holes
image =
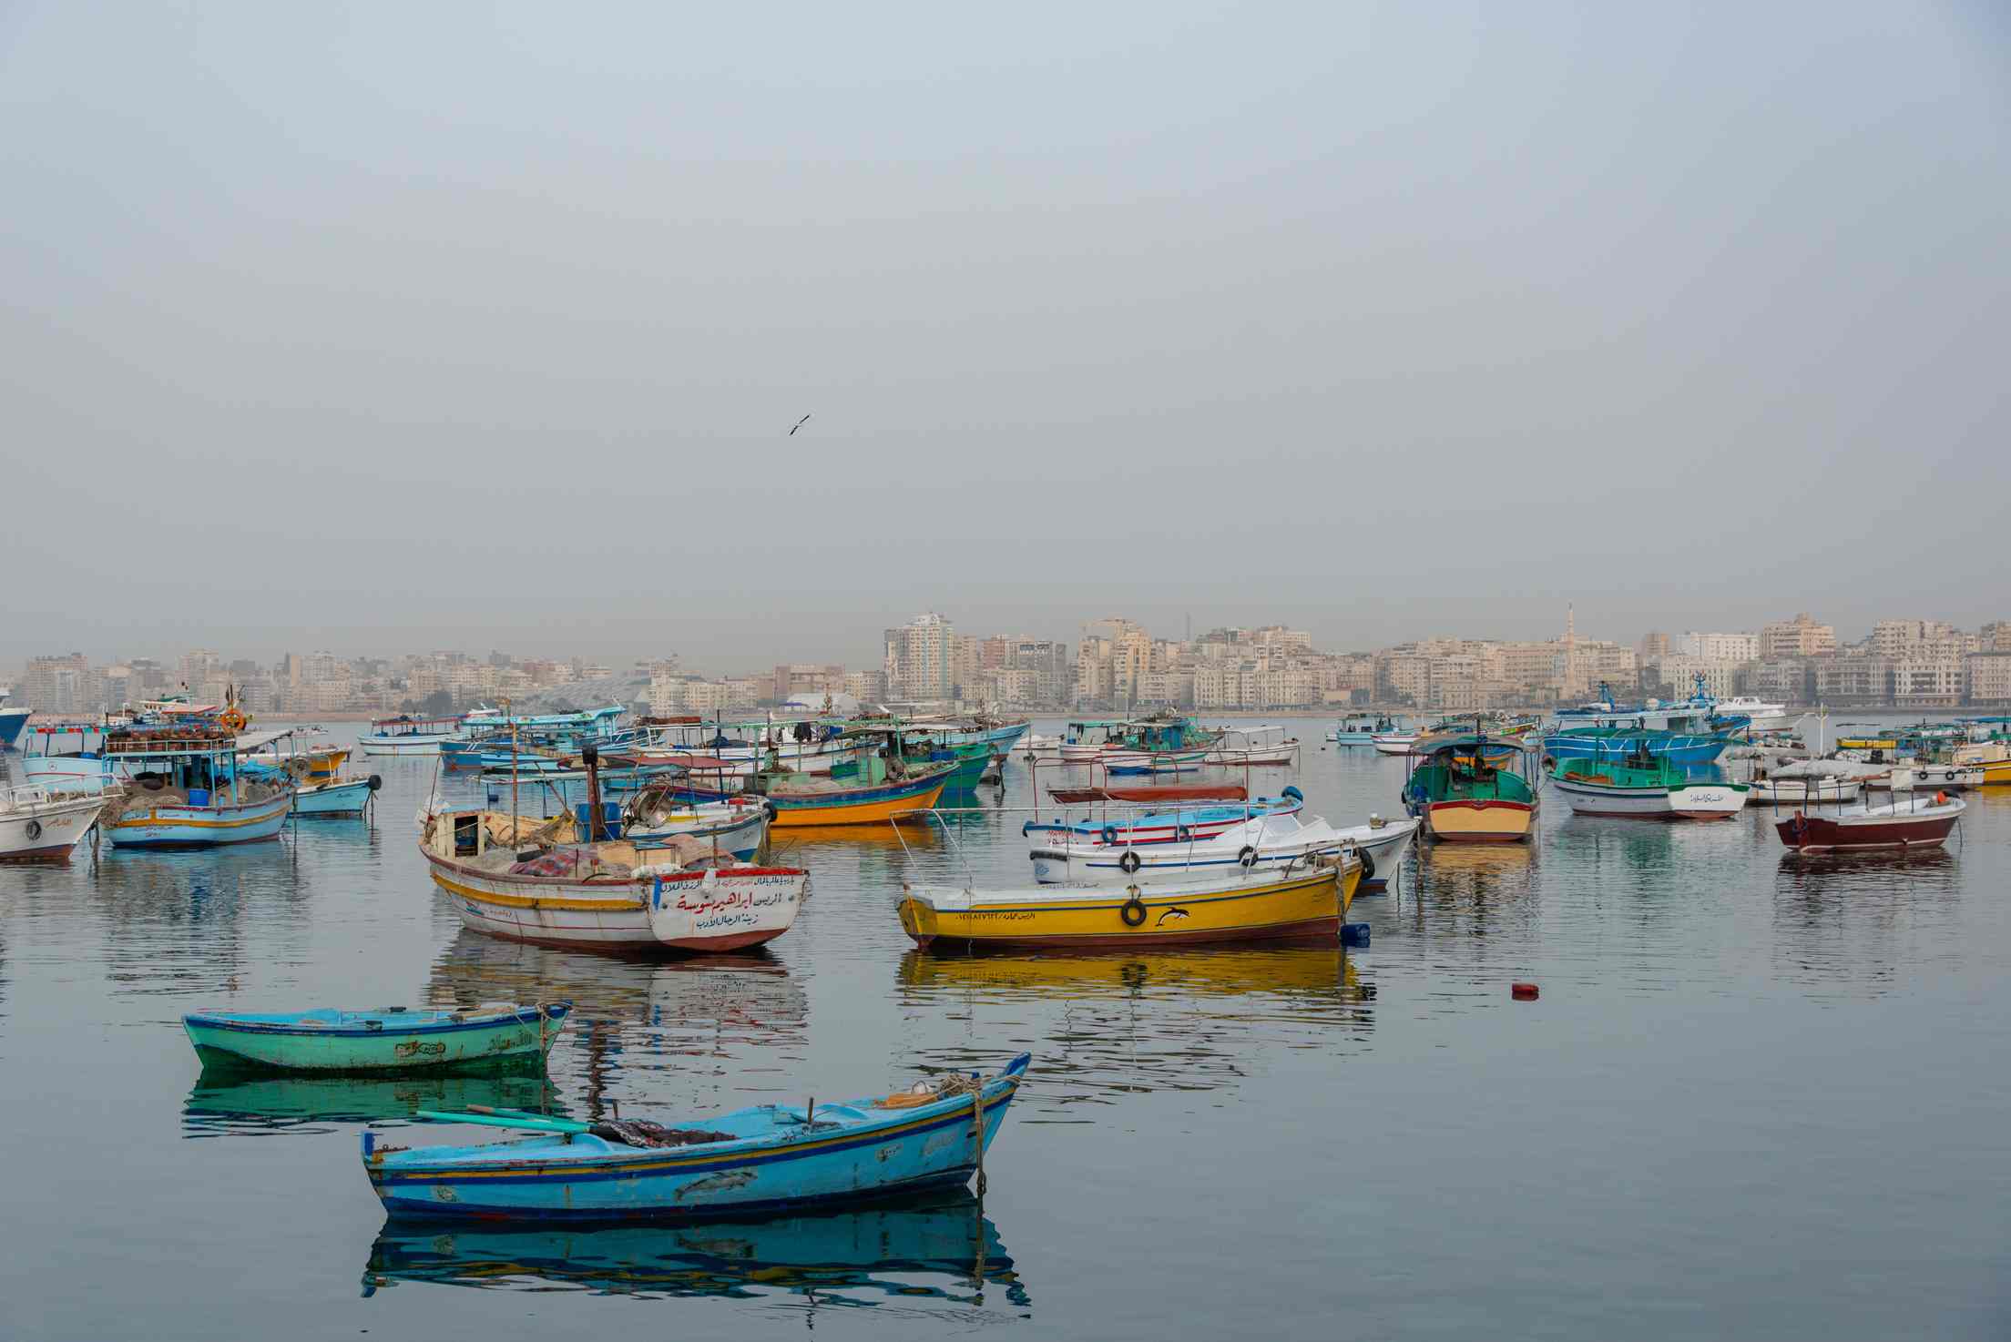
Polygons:
[[800,1296],[861,1306],[939,1300],[1026,1310],[1032,1298],[969,1189],[820,1215],[696,1225],[467,1227],[386,1221],[364,1296],[430,1282],[617,1296]]

